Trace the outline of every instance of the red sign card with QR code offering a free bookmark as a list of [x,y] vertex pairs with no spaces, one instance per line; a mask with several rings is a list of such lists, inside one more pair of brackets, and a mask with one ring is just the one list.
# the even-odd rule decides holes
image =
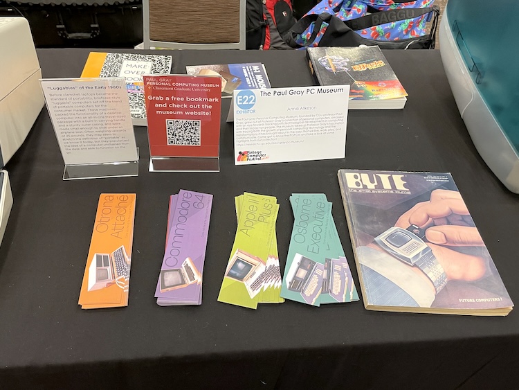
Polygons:
[[221,79],[143,76],[152,157],[219,157]]

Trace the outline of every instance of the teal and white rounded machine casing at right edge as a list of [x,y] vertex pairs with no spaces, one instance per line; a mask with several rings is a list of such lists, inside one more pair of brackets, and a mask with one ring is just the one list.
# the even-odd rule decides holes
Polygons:
[[481,157],[513,193],[519,193],[517,12],[517,1],[508,1],[504,13],[484,0],[450,1],[439,28],[459,113]]

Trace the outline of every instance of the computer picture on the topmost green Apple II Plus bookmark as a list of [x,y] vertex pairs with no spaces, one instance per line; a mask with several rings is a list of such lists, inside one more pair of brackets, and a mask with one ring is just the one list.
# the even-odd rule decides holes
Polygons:
[[254,298],[262,290],[265,263],[259,257],[237,249],[227,265],[225,276],[244,283],[248,295]]

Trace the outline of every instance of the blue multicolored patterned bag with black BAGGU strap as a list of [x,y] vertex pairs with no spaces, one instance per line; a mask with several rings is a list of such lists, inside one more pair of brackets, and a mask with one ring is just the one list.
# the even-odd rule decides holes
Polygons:
[[[432,7],[432,3],[434,0],[322,0],[293,27],[292,31],[296,31],[294,41],[299,47],[324,46],[320,41],[327,32],[331,19],[339,19],[360,37],[377,41],[374,43],[383,48],[392,47],[390,42],[412,43],[421,37],[430,38],[430,44],[421,44],[417,47],[429,45],[432,47],[426,48],[434,48],[434,33],[439,10],[437,7]],[[324,14],[330,14],[331,17]],[[426,23],[431,19],[433,23],[429,35],[426,31]],[[334,25],[337,26],[337,23],[338,21],[335,21]],[[302,32],[300,32],[301,26],[304,27]],[[341,33],[343,32],[334,31],[332,34]],[[330,36],[330,32],[327,35]],[[360,43],[365,42],[361,39]],[[394,47],[407,48],[406,45],[401,44]]]

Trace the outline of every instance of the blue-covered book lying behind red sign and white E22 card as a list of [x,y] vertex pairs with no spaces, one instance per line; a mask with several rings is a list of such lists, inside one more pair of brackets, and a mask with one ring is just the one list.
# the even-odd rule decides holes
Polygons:
[[190,76],[218,76],[221,79],[221,97],[230,98],[235,89],[270,88],[264,64],[213,64],[188,65],[185,70]]

